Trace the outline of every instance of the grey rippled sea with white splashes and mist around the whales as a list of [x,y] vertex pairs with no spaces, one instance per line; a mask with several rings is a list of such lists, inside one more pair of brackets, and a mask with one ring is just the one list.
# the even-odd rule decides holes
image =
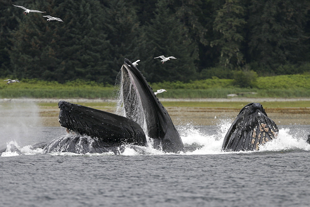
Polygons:
[[277,139],[254,152],[221,152],[233,120],[176,126],[185,144],[163,153],[141,147],[121,155],[50,153],[30,146],[66,135],[40,126],[38,109],[2,107],[0,145],[22,155],[0,157],[0,206],[309,206],[310,125],[278,125]]

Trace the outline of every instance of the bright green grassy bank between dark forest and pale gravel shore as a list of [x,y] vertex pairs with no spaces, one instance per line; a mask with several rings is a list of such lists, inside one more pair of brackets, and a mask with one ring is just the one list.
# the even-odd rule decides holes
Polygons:
[[[310,74],[259,77],[254,88],[238,88],[232,79],[212,78],[188,83],[151,83],[153,91],[166,89],[161,98],[308,98]],[[0,98],[103,98],[114,99],[117,86],[94,81],[75,80],[60,84],[56,81],[21,79],[20,83],[0,84]],[[234,94],[234,95],[232,95]],[[229,96],[228,96],[229,95]]]

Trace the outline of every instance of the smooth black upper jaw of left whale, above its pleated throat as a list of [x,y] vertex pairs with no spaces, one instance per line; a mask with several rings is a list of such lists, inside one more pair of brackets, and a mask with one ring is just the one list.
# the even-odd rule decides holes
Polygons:
[[65,101],[60,101],[58,106],[60,125],[78,134],[115,146],[146,144],[143,129],[126,117]]

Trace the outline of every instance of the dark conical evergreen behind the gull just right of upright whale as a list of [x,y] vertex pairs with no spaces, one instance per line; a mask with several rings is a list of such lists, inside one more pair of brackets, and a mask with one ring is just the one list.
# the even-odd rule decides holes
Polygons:
[[[154,16],[151,24],[144,26],[137,45],[141,64],[147,66],[145,77],[150,82],[196,79],[198,47],[188,28],[169,9],[167,0],[158,1]],[[177,59],[161,64],[160,59],[153,59],[160,55]]]

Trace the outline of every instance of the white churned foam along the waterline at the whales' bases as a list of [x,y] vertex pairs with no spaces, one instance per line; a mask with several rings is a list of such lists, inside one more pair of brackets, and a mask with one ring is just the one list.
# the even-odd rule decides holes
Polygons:
[[[289,128],[279,129],[277,139],[261,145],[259,151],[240,151],[240,152],[223,152],[221,150],[224,137],[228,131],[231,123],[228,120],[222,120],[216,126],[215,133],[208,134],[209,132],[197,128],[191,123],[178,128],[181,139],[184,145],[187,146],[201,146],[193,152],[181,152],[181,155],[207,155],[207,154],[227,154],[227,153],[253,153],[253,152],[270,152],[270,151],[286,151],[286,150],[310,150],[310,144],[304,139],[306,131],[299,129],[297,132],[291,133]],[[214,131],[214,130],[213,130]],[[11,146],[14,145],[20,152],[12,152]],[[35,155],[42,154],[43,149],[33,149],[30,145],[20,147],[18,143],[10,141],[7,143],[7,150],[1,154],[5,156],[18,156],[18,155]],[[50,155],[54,156],[111,156],[115,155],[113,152],[104,153],[86,153],[76,154],[72,152],[51,152]],[[128,145],[122,148],[121,155],[123,156],[139,156],[139,155],[165,155],[174,153],[165,153],[160,150],[149,147]]]

